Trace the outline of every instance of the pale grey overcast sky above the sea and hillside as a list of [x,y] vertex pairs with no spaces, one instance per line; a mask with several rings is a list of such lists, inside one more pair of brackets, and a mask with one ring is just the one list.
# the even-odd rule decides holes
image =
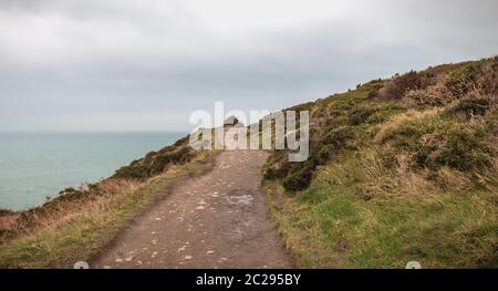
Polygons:
[[0,131],[188,131],[498,53],[496,0],[0,0]]

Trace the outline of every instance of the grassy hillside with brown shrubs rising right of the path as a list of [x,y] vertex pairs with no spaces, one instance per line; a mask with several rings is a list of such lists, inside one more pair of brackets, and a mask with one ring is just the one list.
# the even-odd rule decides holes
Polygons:
[[498,267],[498,58],[372,81],[294,107],[311,156],[264,185],[303,267]]

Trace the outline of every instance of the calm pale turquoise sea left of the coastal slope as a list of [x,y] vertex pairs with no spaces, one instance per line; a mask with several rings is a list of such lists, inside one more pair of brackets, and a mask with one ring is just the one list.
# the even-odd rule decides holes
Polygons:
[[0,209],[37,207],[68,187],[110,177],[185,136],[167,133],[0,133]]

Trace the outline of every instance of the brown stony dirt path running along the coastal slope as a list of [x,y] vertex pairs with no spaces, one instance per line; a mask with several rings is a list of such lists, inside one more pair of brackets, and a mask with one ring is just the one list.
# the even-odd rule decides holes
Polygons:
[[260,186],[267,154],[224,152],[211,172],[176,186],[92,268],[291,268]]

